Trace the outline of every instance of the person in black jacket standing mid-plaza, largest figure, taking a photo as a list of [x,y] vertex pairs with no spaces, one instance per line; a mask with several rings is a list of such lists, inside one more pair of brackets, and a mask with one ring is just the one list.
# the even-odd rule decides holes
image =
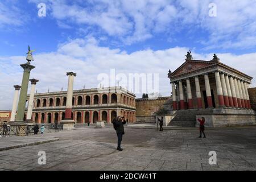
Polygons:
[[117,119],[113,119],[113,125],[115,131],[117,131],[117,150],[122,151],[123,149],[121,148],[121,142],[123,139],[123,135],[125,134],[125,129],[123,128],[123,125],[126,124],[125,118],[118,117]]

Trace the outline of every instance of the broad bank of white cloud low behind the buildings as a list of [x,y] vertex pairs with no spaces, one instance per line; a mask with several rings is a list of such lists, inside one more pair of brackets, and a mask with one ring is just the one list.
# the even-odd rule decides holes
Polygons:
[[[174,71],[184,63],[188,48],[174,47],[153,51],[146,49],[126,53],[120,49],[100,47],[91,36],[85,39],[69,40],[61,44],[56,52],[39,53],[34,55],[36,66],[31,71],[30,78],[40,81],[36,85],[38,92],[60,91],[61,87],[67,89],[68,77],[66,72],[76,72],[74,89],[96,88],[100,73],[110,74],[114,68],[117,73],[159,73],[159,90],[163,96],[170,95],[170,80],[167,78],[168,69]],[[212,59],[213,53],[204,55],[192,52],[195,59]],[[222,63],[228,64],[247,75],[256,77],[256,53],[233,55],[231,53],[218,54]],[[25,62],[24,56],[0,57],[0,109],[11,109],[13,102],[13,85],[20,84],[22,68],[19,64]],[[246,63],[246,64],[245,64]],[[250,65],[250,66],[247,66]],[[252,86],[255,85],[255,81]],[[29,93],[30,91],[28,91]]]

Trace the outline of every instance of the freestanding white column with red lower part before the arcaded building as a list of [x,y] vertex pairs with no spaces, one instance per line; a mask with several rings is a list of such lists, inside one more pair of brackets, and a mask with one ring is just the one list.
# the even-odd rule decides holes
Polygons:
[[72,99],[73,99],[73,82],[76,73],[68,72],[68,92],[67,92],[67,104],[65,110],[65,120],[72,120],[71,113],[72,113]]

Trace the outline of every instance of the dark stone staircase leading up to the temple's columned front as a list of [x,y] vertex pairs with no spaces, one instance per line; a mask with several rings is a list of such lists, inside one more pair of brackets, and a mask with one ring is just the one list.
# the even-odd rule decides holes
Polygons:
[[197,110],[177,110],[168,126],[195,127]]

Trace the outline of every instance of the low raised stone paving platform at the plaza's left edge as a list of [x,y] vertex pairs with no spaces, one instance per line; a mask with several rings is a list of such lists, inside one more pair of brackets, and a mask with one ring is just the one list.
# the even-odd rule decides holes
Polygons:
[[0,138],[0,151],[10,150],[13,148],[20,148],[25,146],[32,146],[36,144],[49,143],[59,140],[53,137],[4,137]]

